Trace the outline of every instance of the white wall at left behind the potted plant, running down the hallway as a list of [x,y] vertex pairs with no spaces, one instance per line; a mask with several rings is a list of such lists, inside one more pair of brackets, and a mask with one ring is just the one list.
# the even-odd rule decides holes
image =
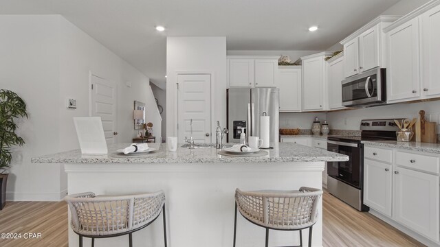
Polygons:
[[[67,189],[63,165],[30,158],[79,148],[72,117],[89,115],[89,71],[118,85],[118,141],[124,142],[137,132],[133,101],[145,102],[147,115],[155,106],[149,78],[59,15],[0,15],[0,33],[0,88],[19,93],[30,114],[19,124],[26,144],[14,149],[7,199],[60,200]],[[69,97],[77,99],[76,110],[67,109]]]

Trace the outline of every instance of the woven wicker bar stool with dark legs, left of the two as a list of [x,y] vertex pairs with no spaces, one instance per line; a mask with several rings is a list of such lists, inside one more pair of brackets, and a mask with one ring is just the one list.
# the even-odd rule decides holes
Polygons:
[[83,237],[118,237],[132,234],[153,223],[160,212],[164,217],[164,246],[166,247],[165,194],[163,191],[126,196],[95,196],[94,193],[78,193],[64,198],[72,215],[72,230],[79,235],[80,247]]

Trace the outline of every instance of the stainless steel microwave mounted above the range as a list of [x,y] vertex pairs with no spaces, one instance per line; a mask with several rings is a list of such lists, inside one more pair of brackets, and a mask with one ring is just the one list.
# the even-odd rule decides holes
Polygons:
[[342,80],[342,106],[369,107],[386,104],[385,69],[376,68]]

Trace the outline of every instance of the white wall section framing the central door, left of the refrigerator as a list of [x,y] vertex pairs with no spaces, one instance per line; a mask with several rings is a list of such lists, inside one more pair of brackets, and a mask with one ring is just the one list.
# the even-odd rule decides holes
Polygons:
[[176,136],[177,73],[179,71],[212,74],[214,85],[214,122],[226,126],[226,38],[168,37],[166,38],[166,134]]

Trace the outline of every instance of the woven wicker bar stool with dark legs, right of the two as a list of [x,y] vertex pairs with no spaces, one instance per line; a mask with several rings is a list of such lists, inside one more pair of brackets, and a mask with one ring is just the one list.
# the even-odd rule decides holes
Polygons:
[[[266,229],[265,246],[269,246],[269,229],[300,231],[300,245],[303,246],[303,232],[311,233],[318,220],[318,200],[322,190],[300,187],[299,191],[235,191],[234,247],[236,240],[236,211],[251,223]],[[294,246],[292,246],[294,247]]]

